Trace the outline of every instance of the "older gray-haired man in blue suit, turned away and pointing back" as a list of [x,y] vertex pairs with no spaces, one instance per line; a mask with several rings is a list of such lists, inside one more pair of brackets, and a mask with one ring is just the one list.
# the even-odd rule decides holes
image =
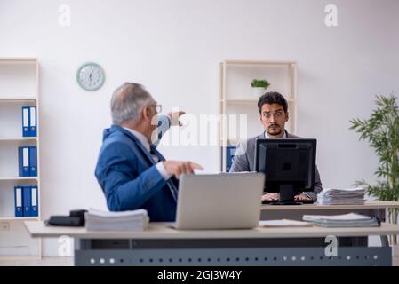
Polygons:
[[164,131],[184,114],[160,115],[160,108],[138,83],[124,83],[112,96],[113,125],[104,130],[95,170],[111,211],[147,209],[151,221],[174,221],[176,177],[203,170],[195,162],[165,161],[156,150]]

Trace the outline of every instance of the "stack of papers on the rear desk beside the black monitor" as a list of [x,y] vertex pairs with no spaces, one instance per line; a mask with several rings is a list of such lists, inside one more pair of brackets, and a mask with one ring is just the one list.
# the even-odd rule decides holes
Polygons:
[[322,205],[361,205],[364,203],[363,188],[324,188],[317,195],[317,202]]

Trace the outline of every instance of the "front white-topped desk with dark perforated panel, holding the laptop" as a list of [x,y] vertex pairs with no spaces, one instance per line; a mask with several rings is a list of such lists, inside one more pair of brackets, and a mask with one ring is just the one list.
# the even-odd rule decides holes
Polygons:
[[[391,265],[391,248],[338,247],[325,256],[324,238],[398,234],[399,225],[369,228],[256,228],[178,231],[168,223],[144,232],[87,232],[26,221],[34,238],[68,235],[76,239],[76,265]],[[311,244],[309,240],[319,240]],[[100,262],[101,261],[101,262]]]

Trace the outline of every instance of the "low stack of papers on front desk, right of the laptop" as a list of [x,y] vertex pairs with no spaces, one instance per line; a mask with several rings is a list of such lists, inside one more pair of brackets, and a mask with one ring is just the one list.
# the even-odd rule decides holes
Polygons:
[[303,220],[323,227],[376,227],[379,221],[374,217],[349,213],[343,215],[304,215]]

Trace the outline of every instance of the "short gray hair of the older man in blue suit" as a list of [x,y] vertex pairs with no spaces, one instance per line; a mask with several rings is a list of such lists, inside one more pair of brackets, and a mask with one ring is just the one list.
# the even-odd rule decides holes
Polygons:
[[124,122],[140,122],[141,111],[152,102],[154,99],[142,85],[124,83],[112,95],[112,122],[116,125]]

